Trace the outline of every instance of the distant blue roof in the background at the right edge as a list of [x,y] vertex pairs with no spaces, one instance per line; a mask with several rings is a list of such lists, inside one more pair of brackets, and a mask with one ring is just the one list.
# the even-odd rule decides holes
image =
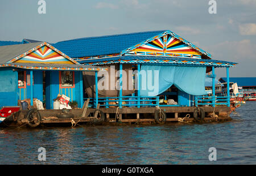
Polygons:
[[[229,81],[237,83],[238,86],[256,86],[256,77],[233,77]],[[226,82],[226,78],[220,78],[220,82]]]

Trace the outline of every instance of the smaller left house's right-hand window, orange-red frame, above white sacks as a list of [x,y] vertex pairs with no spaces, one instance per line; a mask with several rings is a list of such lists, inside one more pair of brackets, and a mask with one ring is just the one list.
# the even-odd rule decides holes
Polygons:
[[75,87],[75,76],[73,71],[60,71],[60,87]]

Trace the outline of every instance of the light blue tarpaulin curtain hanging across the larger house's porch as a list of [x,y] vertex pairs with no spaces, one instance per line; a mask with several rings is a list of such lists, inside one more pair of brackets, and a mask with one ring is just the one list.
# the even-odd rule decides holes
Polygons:
[[157,96],[173,84],[190,95],[205,95],[205,72],[206,67],[142,65],[141,96]]

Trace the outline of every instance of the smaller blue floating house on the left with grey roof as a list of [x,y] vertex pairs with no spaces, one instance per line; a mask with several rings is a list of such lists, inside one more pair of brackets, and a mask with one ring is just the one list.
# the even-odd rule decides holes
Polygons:
[[33,98],[53,109],[53,99],[66,95],[84,104],[82,71],[103,68],[81,65],[47,42],[0,46],[0,106],[16,106]]

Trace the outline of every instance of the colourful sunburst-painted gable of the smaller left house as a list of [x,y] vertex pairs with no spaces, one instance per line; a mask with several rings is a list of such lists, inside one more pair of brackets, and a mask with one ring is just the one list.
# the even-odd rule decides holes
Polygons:
[[61,51],[53,48],[53,46],[44,43],[43,45],[36,46],[35,48],[19,55],[10,62],[13,63],[46,63],[46,64],[76,64],[76,61],[69,58]]

